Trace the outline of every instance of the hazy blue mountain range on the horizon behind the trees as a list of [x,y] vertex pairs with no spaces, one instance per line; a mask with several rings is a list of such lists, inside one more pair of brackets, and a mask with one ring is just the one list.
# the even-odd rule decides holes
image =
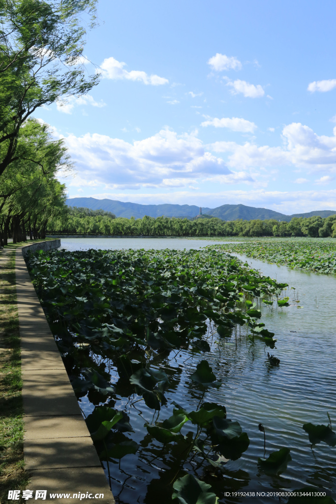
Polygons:
[[[199,207],[195,205],[141,205],[140,203],[124,203],[117,200],[97,200],[95,198],[70,198],[66,200],[66,205],[71,207],[85,207],[92,210],[105,210],[112,212],[116,217],[135,217],[142,219],[145,215],[149,217],[195,217],[199,214]],[[328,217],[336,214],[336,210],[314,210],[312,212],[285,215],[267,208],[247,207],[245,205],[221,205],[216,208],[203,207],[202,213],[219,219],[231,221],[236,219],[243,220],[266,220],[277,219],[289,222],[293,217]]]

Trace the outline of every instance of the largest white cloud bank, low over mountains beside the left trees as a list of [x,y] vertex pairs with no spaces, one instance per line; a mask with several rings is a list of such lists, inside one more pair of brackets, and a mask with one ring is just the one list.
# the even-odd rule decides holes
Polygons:
[[165,129],[133,143],[88,133],[69,135],[65,142],[78,168],[72,186],[137,189],[183,187],[197,180],[253,181],[246,171],[234,172],[222,158],[207,152],[196,132],[178,136]]

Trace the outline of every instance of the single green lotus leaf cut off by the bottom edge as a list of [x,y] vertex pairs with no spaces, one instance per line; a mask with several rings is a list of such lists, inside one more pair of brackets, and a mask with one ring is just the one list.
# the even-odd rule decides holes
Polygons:
[[211,485],[196,479],[192,474],[186,474],[173,484],[172,499],[178,499],[181,504],[217,504],[219,499],[212,492]]

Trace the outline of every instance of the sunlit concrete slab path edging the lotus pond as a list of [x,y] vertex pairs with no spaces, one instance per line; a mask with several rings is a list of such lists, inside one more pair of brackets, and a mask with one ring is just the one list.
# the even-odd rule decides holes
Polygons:
[[[47,490],[46,500],[59,504],[80,500],[114,504],[21,248],[16,250],[15,273],[22,348],[24,458],[25,469],[31,474],[27,489],[34,491],[34,499],[36,490]],[[70,495],[50,498],[50,493]]]

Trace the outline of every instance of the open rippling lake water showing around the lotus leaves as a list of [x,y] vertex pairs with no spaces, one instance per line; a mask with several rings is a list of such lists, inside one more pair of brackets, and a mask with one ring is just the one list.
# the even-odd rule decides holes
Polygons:
[[[169,238],[61,240],[61,246],[68,250],[183,249],[207,244],[204,240]],[[244,256],[238,257],[246,260]],[[213,480],[209,480],[209,477],[207,479],[220,496],[220,502],[256,502],[246,498],[228,499],[223,493],[226,489],[293,490],[307,485],[329,489],[335,498],[336,447],[331,448],[321,443],[311,450],[308,434],[302,429],[302,425],[307,422],[327,425],[328,412],[333,429],[336,426],[336,277],[290,270],[284,266],[251,259],[247,261],[264,275],[289,284],[289,291],[285,294],[290,297],[289,307],[274,307],[273,310],[264,304],[260,307],[261,321],[268,330],[275,333],[278,340],[271,353],[280,358],[280,366],[271,367],[266,360],[269,349],[257,340],[254,344],[247,343],[245,334],[238,340],[237,347],[234,341],[227,344],[219,340],[219,344],[215,343],[215,336],[213,342],[209,341],[212,343],[211,353],[192,355],[191,352],[182,350],[175,359],[171,358],[172,355],[170,358],[158,359],[158,366],[165,369],[172,383],[166,393],[168,404],[162,407],[159,419],[171,415],[172,401],[180,403],[187,410],[196,407],[200,393],[191,387],[188,376],[190,368],[194,368],[201,358],[206,358],[223,385],[219,390],[210,389],[205,400],[225,404],[227,417],[238,420],[250,438],[250,446],[242,457],[229,461],[225,466],[224,483],[222,479],[215,477]],[[298,294],[298,303],[293,300],[294,292],[295,297]],[[106,365],[106,370],[109,369],[113,376],[113,363],[106,361]],[[86,415],[94,408],[87,398],[81,398],[80,405]],[[160,488],[176,472],[174,454],[170,446],[161,460],[157,457],[162,445],[155,440],[150,443],[149,440],[146,441],[146,437],[144,439],[144,419],[151,421],[153,411],[142,402],[130,406],[127,398],[118,398],[116,408],[127,411],[136,431],[132,438],[142,445],[137,455],[127,455],[122,459],[121,469],[124,472],[120,472],[117,465],[110,464],[112,491],[116,502],[156,504],[159,496],[160,504],[168,504],[164,492],[160,493]],[[291,450],[292,462],[281,476],[270,477],[258,471],[257,458],[263,457],[264,453],[263,434],[258,430],[260,422],[266,432],[266,457],[270,451],[282,447]],[[265,498],[258,501],[268,503],[279,499]],[[287,499],[283,498],[282,501],[286,502]]]

